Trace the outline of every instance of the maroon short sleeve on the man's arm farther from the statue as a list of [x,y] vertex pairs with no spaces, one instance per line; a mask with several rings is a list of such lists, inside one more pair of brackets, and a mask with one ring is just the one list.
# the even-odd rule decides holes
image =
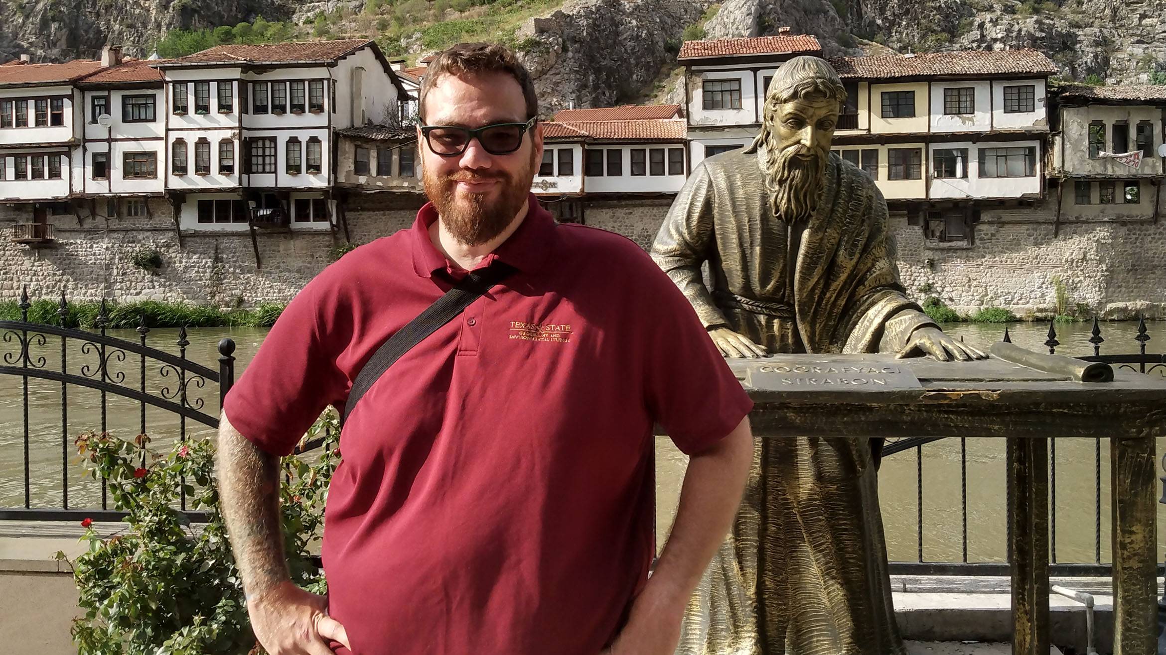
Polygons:
[[322,274],[293,298],[224,400],[231,425],[273,455],[292,452],[324,408],[347,393],[336,364],[347,340],[333,326],[344,312],[331,280]]

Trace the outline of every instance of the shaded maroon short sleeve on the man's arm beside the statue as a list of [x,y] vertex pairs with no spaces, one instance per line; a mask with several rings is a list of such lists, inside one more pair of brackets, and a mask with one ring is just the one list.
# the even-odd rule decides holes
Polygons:
[[644,277],[648,410],[676,448],[693,455],[728,436],[753,401],[672,280],[659,269]]

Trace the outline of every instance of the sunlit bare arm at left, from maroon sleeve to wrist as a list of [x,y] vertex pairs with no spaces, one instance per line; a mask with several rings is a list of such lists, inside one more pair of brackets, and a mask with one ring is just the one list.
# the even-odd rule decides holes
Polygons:
[[219,417],[218,483],[223,519],[248,598],[290,579],[280,524],[280,458]]

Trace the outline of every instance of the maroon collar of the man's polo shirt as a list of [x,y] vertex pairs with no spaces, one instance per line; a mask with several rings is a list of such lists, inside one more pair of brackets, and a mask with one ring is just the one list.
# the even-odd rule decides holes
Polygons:
[[[542,209],[534,193],[528,196],[527,203],[522,224],[487,255],[480,266],[486,266],[497,259],[524,273],[534,273],[546,263],[554,244],[555,219],[550,212]],[[435,220],[437,220],[437,209],[431,202],[426,203],[417,211],[417,219],[410,230],[413,268],[422,277],[433,277],[435,272],[454,270],[456,267],[429,239],[429,227]]]

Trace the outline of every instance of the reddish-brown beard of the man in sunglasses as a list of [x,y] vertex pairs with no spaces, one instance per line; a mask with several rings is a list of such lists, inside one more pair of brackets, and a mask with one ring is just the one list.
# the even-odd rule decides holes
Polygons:
[[[500,189],[497,191],[497,197],[494,190],[458,197],[458,182],[484,179],[498,181]],[[461,169],[434,178],[424,167],[421,169],[421,183],[426,196],[437,209],[442,225],[458,244],[464,246],[480,246],[501,234],[527,202],[532,179],[534,179],[533,148],[531,161],[518,175],[499,169],[480,171]],[[492,197],[494,199],[491,199]]]

